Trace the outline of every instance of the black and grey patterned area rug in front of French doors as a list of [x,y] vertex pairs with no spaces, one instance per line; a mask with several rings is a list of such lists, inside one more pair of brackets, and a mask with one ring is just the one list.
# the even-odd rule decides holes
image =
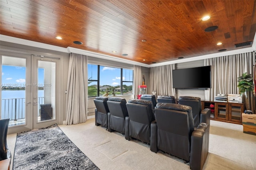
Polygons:
[[13,170],[99,170],[58,125],[17,135]]

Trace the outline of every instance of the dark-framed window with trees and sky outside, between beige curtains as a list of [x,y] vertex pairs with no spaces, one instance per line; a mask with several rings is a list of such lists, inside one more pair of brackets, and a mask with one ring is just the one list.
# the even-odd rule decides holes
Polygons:
[[88,97],[133,94],[133,70],[88,64]]

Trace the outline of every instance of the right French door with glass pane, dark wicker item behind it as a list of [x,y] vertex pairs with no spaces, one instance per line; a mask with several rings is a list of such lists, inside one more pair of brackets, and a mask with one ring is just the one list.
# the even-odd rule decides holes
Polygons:
[[33,128],[42,128],[57,122],[57,100],[59,87],[59,60],[50,58],[33,57]]

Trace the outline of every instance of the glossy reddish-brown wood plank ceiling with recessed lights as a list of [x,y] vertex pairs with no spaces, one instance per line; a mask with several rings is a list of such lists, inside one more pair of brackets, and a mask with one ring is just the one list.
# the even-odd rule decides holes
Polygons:
[[[220,49],[251,47],[234,44],[253,41],[256,32],[255,0],[0,0],[0,3],[2,35],[146,64],[217,53]],[[211,18],[202,21],[204,15]],[[210,26],[218,29],[205,32]],[[222,45],[216,45],[218,42]]]

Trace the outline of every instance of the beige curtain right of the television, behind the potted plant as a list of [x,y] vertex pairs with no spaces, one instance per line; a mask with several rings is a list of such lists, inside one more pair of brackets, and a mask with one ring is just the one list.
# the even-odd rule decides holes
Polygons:
[[[211,89],[205,91],[205,99],[214,100],[217,94],[239,94],[237,77],[242,73],[254,74],[255,53],[241,53],[204,59],[204,65],[211,65]],[[255,110],[255,97],[251,97],[251,110]],[[243,102],[245,100],[243,99]]]

